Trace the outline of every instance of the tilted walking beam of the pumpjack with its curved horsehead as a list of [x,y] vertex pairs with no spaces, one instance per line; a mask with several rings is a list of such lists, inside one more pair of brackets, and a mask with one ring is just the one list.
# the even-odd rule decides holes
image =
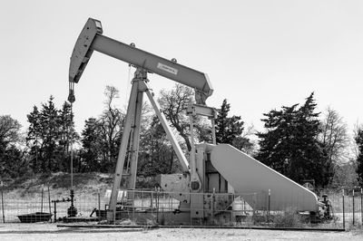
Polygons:
[[74,45],[69,67],[69,82],[79,82],[93,51],[104,53],[175,82],[185,84],[196,91],[198,103],[205,104],[205,100],[213,92],[206,73],[198,72],[182,64],[106,37],[103,35],[101,22],[93,18],[88,19]]

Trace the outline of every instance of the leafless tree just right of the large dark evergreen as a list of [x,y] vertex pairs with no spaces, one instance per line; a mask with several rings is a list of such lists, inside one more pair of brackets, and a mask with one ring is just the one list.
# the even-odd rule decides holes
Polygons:
[[350,142],[348,128],[338,112],[328,107],[321,121],[320,141],[325,146],[330,163],[341,164],[348,160]]

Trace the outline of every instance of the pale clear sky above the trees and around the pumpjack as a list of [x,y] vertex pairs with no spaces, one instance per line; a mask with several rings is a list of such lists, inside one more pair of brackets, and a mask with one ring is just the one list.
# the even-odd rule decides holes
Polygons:
[[[363,120],[363,1],[355,0],[2,0],[0,115],[26,128],[33,106],[68,95],[69,58],[88,17],[103,34],[176,58],[208,73],[210,106],[226,98],[231,113],[262,130],[272,109],[315,92],[319,111],[338,111],[348,127]],[[77,130],[103,110],[103,90],[114,85],[119,105],[130,92],[128,64],[93,53],[75,86]],[[154,92],[172,81],[150,74]]]

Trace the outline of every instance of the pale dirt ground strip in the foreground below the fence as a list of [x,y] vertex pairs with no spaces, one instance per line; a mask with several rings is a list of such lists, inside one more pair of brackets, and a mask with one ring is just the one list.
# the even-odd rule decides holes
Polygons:
[[363,240],[349,232],[200,228],[75,228],[55,224],[0,224],[1,240]]

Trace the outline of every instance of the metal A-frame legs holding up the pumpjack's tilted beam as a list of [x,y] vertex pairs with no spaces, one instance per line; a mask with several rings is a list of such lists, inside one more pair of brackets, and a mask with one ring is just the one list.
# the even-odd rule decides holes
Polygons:
[[[134,78],[132,80],[132,91],[130,94],[129,104],[127,107],[126,117],[123,126],[123,138],[117,158],[109,209],[107,210],[108,222],[115,221],[118,190],[120,188],[121,180],[123,178],[123,167],[125,164],[124,162],[128,150],[131,163],[130,180],[127,188],[135,188],[140,142],[143,92],[146,92],[146,95],[151,101],[152,107],[156,112],[159,120],[161,121],[162,127],[165,130],[168,139],[172,142],[172,148],[174,149],[178,159],[181,161],[182,168],[184,169],[184,171],[189,172],[189,163],[185,158],[184,154],[182,153],[182,149],[174,134],[172,133],[172,130],[168,125],[164,114],[161,111],[159,103],[153,99],[153,93],[148,87],[147,82],[147,71],[142,68],[137,68],[136,72],[134,73]],[[132,192],[129,194],[128,198],[133,200]]]

